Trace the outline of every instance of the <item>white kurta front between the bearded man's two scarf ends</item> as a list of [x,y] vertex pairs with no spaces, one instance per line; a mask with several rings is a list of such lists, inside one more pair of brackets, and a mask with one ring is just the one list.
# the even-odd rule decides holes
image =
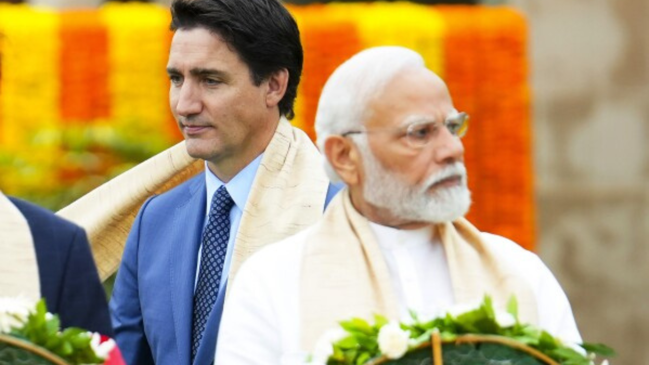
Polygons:
[[433,238],[431,226],[405,230],[369,223],[386,260],[401,318],[410,318],[408,310],[434,318],[454,304],[444,246]]

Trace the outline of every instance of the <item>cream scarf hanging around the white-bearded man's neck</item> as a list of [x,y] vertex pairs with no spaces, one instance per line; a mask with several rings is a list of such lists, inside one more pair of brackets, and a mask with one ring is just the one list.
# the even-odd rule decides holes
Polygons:
[[[461,218],[435,229],[447,255],[456,303],[478,303],[489,294],[496,307],[504,308],[515,295],[520,320],[537,323],[532,288],[498,261],[469,221]],[[397,299],[373,231],[343,190],[305,238],[300,276],[302,348],[313,349],[319,336],[338,321],[369,319],[375,313],[399,320]]]

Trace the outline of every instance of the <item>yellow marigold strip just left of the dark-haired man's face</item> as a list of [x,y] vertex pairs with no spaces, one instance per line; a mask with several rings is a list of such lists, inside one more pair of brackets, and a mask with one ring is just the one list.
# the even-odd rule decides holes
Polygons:
[[143,3],[108,3],[100,8],[108,27],[108,90],[112,124],[131,137],[159,135],[173,140],[167,121],[169,10]]

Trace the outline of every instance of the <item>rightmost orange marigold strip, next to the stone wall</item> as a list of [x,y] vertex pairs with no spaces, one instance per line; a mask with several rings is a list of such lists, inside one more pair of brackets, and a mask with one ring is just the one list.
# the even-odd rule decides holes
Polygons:
[[[533,249],[534,206],[526,26],[508,8],[474,8],[477,223]],[[472,131],[472,136],[474,133]],[[475,148],[477,147],[477,148]]]

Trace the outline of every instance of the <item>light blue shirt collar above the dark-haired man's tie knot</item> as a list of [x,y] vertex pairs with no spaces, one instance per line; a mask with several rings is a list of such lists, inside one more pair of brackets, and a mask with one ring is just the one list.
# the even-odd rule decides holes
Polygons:
[[[239,171],[232,180],[225,184],[225,188],[228,190],[228,194],[232,197],[234,205],[243,211],[245,207],[245,202],[248,200],[248,195],[252,188],[252,181],[254,181],[254,176],[257,173],[260,163],[262,162],[262,156],[259,155],[257,158],[252,160],[243,170]],[[210,205],[212,205],[212,197],[216,190],[218,190],[223,185],[221,181],[207,166],[207,161],[205,162],[205,186],[207,189],[207,204],[205,207],[205,215],[210,214]]]

